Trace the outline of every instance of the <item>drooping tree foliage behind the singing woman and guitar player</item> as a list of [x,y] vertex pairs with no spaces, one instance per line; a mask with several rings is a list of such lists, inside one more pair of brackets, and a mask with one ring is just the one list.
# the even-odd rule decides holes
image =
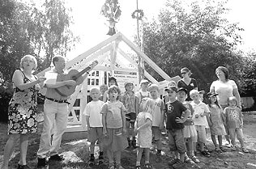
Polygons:
[[2,85],[11,82],[20,58],[32,54],[38,70],[49,67],[54,54],[66,52],[79,40],[70,31],[72,17],[63,0],[45,0],[42,6],[17,0],[0,1],[0,74]]

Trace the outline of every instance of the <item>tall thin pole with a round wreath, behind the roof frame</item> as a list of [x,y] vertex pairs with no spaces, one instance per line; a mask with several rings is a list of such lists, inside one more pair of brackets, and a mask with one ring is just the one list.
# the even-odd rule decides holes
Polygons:
[[[137,19],[137,39],[138,39],[139,49],[142,49],[142,43],[139,36],[139,20],[143,19],[144,13],[143,13],[143,10],[139,10],[138,0],[136,0],[136,6],[137,6],[137,9],[132,13],[131,17],[133,19]],[[138,70],[139,70],[139,82],[140,82],[144,77],[144,64],[139,54],[138,54],[138,57],[139,57]]]

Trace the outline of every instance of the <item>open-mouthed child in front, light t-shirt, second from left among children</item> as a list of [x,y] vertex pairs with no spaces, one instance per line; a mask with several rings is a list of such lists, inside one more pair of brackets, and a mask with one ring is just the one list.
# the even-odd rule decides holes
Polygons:
[[[123,169],[121,166],[121,152],[128,146],[126,140],[126,108],[118,101],[121,91],[117,86],[109,87],[109,101],[102,106],[102,125],[105,135],[105,146],[109,158],[109,169]],[[116,167],[113,163],[115,154]]]

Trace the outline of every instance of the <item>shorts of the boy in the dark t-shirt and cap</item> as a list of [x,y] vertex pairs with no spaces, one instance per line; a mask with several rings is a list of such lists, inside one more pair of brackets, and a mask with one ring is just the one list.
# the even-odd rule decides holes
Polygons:
[[171,151],[177,151],[180,154],[184,154],[186,152],[186,144],[182,129],[169,129],[168,137]]

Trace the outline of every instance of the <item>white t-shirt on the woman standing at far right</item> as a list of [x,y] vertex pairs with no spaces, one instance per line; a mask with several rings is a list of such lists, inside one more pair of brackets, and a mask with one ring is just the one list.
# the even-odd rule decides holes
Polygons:
[[227,104],[228,97],[233,96],[233,90],[237,89],[237,84],[233,80],[228,80],[228,82],[221,82],[216,80],[211,83],[210,91],[215,91],[217,99],[220,105]]

